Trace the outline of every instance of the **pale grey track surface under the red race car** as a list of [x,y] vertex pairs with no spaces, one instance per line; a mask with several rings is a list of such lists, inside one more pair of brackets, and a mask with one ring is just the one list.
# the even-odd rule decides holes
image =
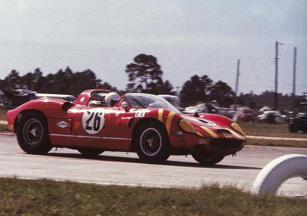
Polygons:
[[[76,150],[53,148],[47,155],[29,155],[10,133],[0,134],[0,145],[0,177],[162,188],[198,188],[217,183],[246,192],[251,191],[256,176],[268,162],[287,154],[307,155],[306,148],[246,146],[237,156],[227,156],[205,167],[191,155],[171,156],[161,165],[142,163],[135,153],[125,152],[86,158]],[[288,180],[278,193],[307,195],[307,181],[298,177]]]

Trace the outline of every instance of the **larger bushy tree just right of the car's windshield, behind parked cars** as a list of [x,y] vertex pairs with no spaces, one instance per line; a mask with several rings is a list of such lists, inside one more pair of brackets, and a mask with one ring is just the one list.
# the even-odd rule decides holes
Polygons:
[[197,102],[207,102],[212,88],[212,80],[204,75],[194,75],[186,81],[180,92],[182,106],[190,106]]

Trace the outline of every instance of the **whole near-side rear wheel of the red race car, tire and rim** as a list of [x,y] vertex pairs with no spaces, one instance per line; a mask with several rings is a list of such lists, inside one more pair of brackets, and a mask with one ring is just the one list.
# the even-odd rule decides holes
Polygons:
[[45,117],[38,113],[28,113],[21,117],[17,128],[17,142],[28,154],[42,155],[52,149]]

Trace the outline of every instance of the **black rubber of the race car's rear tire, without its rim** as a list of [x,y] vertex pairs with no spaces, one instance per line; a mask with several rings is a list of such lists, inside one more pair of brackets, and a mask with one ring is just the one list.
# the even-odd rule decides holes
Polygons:
[[[24,130],[29,120],[37,121],[41,124],[41,136],[39,142],[35,144],[29,144],[24,137]],[[21,149],[28,154],[43,155],[48,153],[52,149],[52,144],[48,134],[47,119],[39,113],[28,113],[21,117],[17,128],[17,142]]]

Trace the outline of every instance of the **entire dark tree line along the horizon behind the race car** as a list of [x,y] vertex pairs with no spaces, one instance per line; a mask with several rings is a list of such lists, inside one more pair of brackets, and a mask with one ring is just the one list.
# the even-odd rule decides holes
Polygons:
[[[157,63],[157,58],[152,55],[139,54],[134,57],[134,62],[126,65],[125,72],[128,75],[126,89],[119,90],[107,82],[98,79],[93,71],[86,69],[81,72],[73,72],[69,66],[59,69],[55,74],[49,73],[43,76],[40,68],[20,76],[17,70],[12,70],[4,80],[0,80],[0,87],[6,89],[28,88],[38,93],[79,95],[82,91],[92,89],[96,84],[102,89],[118,92],[141,92],[149,94],[177,95],[169,80],[163,81],[163,71]],[[235,96],[234,91],[227,83],[221,80],[214,83],[207,75],[194,75],[187,80],[179,93],[182,107],[195,105],[197,102],[209,102],[216,100],[221,107],[229,107],[231,104],[241,104],[252,108],[273,106],[274,92],[265,91],[261,95],[252,92]],[[279,106],[282,109],[292,107],[291,96],[278,95]],[[299,99],[297,99],[299,101]]]

